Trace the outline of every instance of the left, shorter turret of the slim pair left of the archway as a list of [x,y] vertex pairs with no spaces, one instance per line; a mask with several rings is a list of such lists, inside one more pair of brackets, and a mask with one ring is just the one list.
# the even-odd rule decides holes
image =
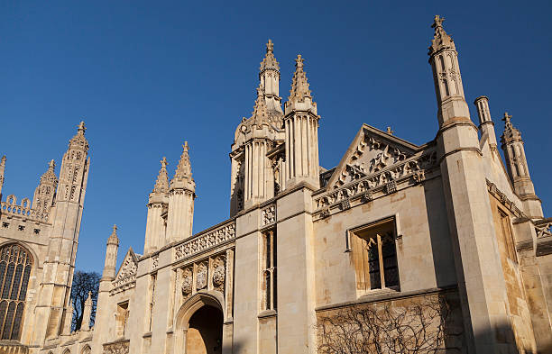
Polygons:
[[169,203],[169,175],[167,173],[169,163],[165,157],[160,162],[161,169],[148,201],[144,254],[159,249],[165,242],[165,221],[161,214]]

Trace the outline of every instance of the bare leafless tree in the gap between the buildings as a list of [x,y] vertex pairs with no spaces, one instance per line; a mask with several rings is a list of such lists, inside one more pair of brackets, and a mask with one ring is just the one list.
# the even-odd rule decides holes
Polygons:
[[97,292],[99,290],[100,275],[97,272],[82,272],[77,270],[73,276],[71,287],[71,304],[75,309],[73,313],[72,331],[78,331],[82,324],[85,302],[88,292],[92,293],[92,313],[90,315],[90,326],[94,325],[96,319]]

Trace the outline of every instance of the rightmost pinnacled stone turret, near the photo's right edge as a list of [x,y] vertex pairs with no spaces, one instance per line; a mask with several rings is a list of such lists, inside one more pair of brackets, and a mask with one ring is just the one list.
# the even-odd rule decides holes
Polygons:
[[517,195],[527,213],[531,218],[541,219],[543,217],[540,199],[535,194],[535,186],[529,176],[529,165],[525,157],[521,133],[511,123],[511,115],[504,113],[504,132],[501,136],[502,150],[506,159],[506,167],[511,182]]

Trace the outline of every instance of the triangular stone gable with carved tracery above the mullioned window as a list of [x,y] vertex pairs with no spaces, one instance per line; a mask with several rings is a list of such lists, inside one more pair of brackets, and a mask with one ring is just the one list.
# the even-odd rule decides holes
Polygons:
[[419,146],[403,141],[391,133],[363,124],[337,165],[327,187],[338,188],[408,159]]

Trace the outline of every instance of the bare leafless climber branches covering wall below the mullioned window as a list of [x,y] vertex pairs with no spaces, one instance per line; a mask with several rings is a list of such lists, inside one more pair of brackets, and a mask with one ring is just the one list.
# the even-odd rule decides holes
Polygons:
[[318,317],[318,353],[444,352],[447,337],[460,334],[448,325],[450,313],[444,296],[345,307]]

